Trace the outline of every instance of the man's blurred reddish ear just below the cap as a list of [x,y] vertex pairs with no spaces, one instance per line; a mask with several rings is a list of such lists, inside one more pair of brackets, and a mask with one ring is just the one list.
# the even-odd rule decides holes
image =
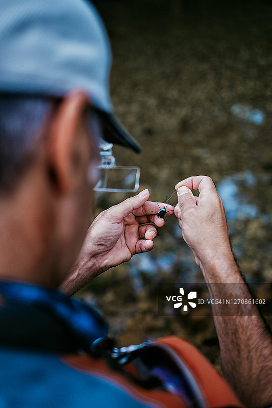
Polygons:
[[[79,138],[84,137],[82,120],[88,103],[89,97],[84,91],[68,93],[54,113],[48,130],[48,172],[60,193],[67,193],[77,179],[76,156],[89,156],[86,146],[80,149],[79,143]],[[79,161],[81,159],[78,157]]]

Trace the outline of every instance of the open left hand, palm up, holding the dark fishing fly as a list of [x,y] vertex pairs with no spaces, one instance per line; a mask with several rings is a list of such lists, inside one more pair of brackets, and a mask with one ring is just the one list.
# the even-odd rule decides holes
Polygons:
[[[72,294],[87,284],[92,278],[109,268],[129,261],[135,253],[150,251],[157,236],[153,222],[163,226],[158,218],[156,202],[147,201],[149,191],[144,190],[118,205],[99,214],[92,222],[71,274],[62,285],[62,290]],[[163,203],[159,203],[163,207]],[[169,212],[168,212],[169,211]],[[174,207],[167,205],[168,214]]]

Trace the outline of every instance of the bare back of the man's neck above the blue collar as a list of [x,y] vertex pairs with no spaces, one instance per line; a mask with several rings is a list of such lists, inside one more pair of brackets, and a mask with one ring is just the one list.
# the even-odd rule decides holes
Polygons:
[[14,192],[0,199],[0,279],[52,288],[57,283],[50,273],[50,212],[44,219],[46,203],[35,182],[26,177]]

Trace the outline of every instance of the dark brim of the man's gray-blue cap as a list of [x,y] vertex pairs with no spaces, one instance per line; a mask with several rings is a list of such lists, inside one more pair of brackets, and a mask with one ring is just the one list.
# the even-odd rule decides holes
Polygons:
[[103,137],[109,143],[120,144],[129,147],[136,153],[141,151],[141,146],[123,127],[113,113],[107,113],[100,109],[96,109],[101,118],[103,129]]

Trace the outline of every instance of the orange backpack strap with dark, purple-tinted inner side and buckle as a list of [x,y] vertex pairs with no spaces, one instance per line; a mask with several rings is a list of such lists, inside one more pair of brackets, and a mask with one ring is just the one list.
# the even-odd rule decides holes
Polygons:
[[152,395],[154,401],[162,403],[164,396],[164,406],[174,408],[178,399],[179,407],[243,408],[208,360],[190,343],[174,336],[112,350],[103,341],[97,342],[96,352],[86,356],[84,363],[80,360],[65,359],[66,364],[106,375],[130,392]]

